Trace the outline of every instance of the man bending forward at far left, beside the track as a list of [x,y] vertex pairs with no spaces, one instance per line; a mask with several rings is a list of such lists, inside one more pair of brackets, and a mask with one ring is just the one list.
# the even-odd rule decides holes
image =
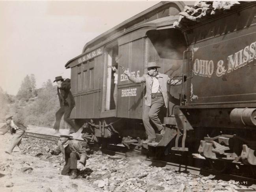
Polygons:
[[21,152],[24,152],[25,149],[20,147],[21,139],[24,136],[25,130],[27,130],[26,126],[22,122],[21,119],[13,118],[13,116],[6,116],[6,125],[1,128],[2,132],[0,134],[6,134],[8,130],[10,130],[13,135],[13,139],[11,141],[11,145],[9,149],[4,151],[5,153],[11,155],[14,147],[17,145]]

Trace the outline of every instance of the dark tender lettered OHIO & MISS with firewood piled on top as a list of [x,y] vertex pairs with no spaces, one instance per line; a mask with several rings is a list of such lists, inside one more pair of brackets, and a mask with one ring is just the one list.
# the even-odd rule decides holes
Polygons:
[[256,3],[224,3],[190,7],[175,24],[188,45],[186,89],[175,109],[185,116],[178,127],[190,142],[173,149],[256,165]]

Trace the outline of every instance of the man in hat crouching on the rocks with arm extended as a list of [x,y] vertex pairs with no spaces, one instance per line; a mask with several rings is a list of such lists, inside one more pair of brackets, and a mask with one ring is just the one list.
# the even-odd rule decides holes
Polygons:
[[52,155],[59,155],[62,152],[65,157],[65,165],[61,172],[62,175],[70,175],[71,179],[77,178],[77,160],[84,166],[86,160],[86,151],[83,146],[77,141],[72,139],[73,136],[69,135],[69,131],[60,134],[58,147],[54,150],[48,149]]

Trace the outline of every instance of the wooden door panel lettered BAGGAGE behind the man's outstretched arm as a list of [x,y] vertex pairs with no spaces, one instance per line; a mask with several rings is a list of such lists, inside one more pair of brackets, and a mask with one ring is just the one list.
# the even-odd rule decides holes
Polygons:
[[[145,33],[135,32],[118,40],[119,65],[136,77],[144,74]],[[119,66],[117,117],[142,119],[144,84],[133,84]]]

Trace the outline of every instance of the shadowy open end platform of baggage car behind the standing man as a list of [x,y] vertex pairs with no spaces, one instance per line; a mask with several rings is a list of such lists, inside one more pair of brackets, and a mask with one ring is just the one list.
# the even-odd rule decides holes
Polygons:
[[[181,78],[183,73],[183,52],[187,49],[184,35],[181,31],[174,28],[162,30],[150,30],[148,37],[148,60],[160,65],[160,73],[166,74],[171,78]],[[182,93],[182,86],[170,86],[169,109],[170,115],[173,114],[172,108],[179,105]],[[166,115],[166,113],[165,113]]]

